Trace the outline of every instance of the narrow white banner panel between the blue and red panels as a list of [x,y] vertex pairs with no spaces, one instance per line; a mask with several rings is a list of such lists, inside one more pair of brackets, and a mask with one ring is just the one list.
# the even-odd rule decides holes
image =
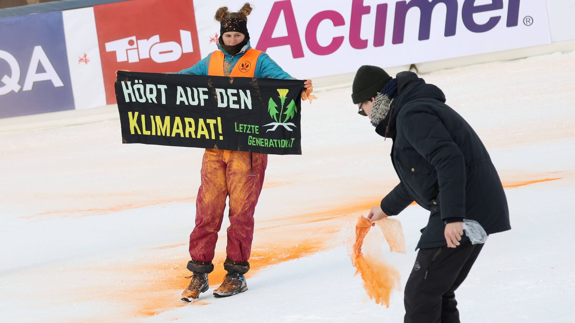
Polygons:
[[94,8],[66,10],[62,18],[76,110],[106,105]]

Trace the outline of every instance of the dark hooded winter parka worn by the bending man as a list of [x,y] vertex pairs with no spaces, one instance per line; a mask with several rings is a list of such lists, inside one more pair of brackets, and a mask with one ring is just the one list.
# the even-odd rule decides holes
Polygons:
[[471,126],[445,104],[438,87],[415,73],[397,74],[397,83],[390,114],[375,128],[386,136],[389,122],[400,179],[381,209],[394,216],[416,201],[430,211],[416,249],[447,245],[446,218],[475,220],[488,234],[511,229],[499,174]]

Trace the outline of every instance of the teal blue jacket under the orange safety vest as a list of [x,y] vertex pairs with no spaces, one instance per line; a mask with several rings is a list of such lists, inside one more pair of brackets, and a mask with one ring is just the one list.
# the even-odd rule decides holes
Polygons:
[[[220,44],[217,44],[218,49],[224,52],[224,60],[229,64],[224,64],[227,67],[227,71],[224,71],[225,75],[229,75],[232,71],[233,67],[236,66],[237,62],[240,60],[241,56],[244,56],[244,53],[250,49],[250,42],[244,46],[239,53],[236,55],[229,55],[224,49],[221,48]],[[212,53],[209,53],[204,59],[198,61],[194,66],[190,68],[186,68],[185,70],[179,71],[176,74],[191,74],[191,75],[208,75],[208,69],[210,66],[210,57],[212,57]],[[293,78],[291,75],[287,74],[285,71],[282,70],[281,67],[270,56],[266,53],[261,53],[258,56],[258,60],[255,64],[255,78],[269,78],[269,79],[296,79]]]

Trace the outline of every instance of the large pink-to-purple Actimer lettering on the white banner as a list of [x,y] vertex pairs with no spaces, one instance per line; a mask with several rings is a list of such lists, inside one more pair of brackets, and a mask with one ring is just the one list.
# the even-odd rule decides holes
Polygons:
[[[392,2],[392,1],[386,1]],[[309,19],[307,26],[298,26],[296,14],[291,0],[276,1],[271,7],[266,24],[263,27],[262,34],[259,37],[258,44],[255,48],[260,51],[267,51],[272,47],[289,45],[292,49],[293,58],[304,57],[300,33],[298,30],[305,30],[305,43],[309,50],[316,55],[329,55],[338,51],[343,42],[347,39],[352,48],[363,49],[369,45],[369,39],[362,39],[367,35],[367,30],[362,30],[362,18],[365,15],[375,15],[375,29],[371,33],[373,47],[381,47],[385,44],[385,35],[387,28],[393,28],[392,44],[404,43],[405,25],[408,11],[419,11],[419,37],[420,41],[430,39],[431,22],[436,16],[434,11],[438,7],[446,8],[446,21],[444,27],[444,36],[455,36],[457,32],[457,21],[459,11],[461,10],[461,20],[467,30],[474,33],[484,33],[495,28],[503,20],[508,28],[515,27],[519,22],[519,4],[520,0],[490,0],[488,4],[476,4],[476,0],[403,0],[394,3],[394,12],[388,14],[388,3],[379,3],[375,6],[364,5],[363,0],[352,0],[350,16],[344,17],[342,13],[336,10],[324,10],[315,14]],[[487,1],[481,1],[487,2]],[[506,2],[506,6],[504,6]],[[438,6],[439,4],[442,6]],[[501,14],[493,13],[486,22],[479,22],[475,14],[488,13],[507,8],[507,17],[502,19]],[[442,9],[439,9],[442,10]],[[280,19],[284,17],[284,19]],[[388,19],[388,18],[392,18]],[[331,21],[334,27],[345,26],[349,23],[349,37],[333,37],[328,45],[321,45],[318,40],[317,30],[324,20]],[[287,36],[273,37],[274,30],[278,23],[285,21]],[[327,22],[323,22],[327,24]],[[301,24],[301,22],[300,22]],[[527,24],[526,24],[527,25]],[[321,43],[327,43],[329,39],[322,39]]]

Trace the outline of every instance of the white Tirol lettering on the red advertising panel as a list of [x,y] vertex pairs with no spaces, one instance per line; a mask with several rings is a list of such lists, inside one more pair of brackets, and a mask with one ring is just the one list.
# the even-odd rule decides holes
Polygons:
[[176,61],[182,53],[193,53],[194,45],[191,32],[179,30],[181,45],[175,41],[160,42],[160,35],[156,34],[150,39],[136,40],[136,36],[126,37],[106,43],[106,52],[116,52],[116,61],[136,63],[141,59],[152,59],[156,63]]

